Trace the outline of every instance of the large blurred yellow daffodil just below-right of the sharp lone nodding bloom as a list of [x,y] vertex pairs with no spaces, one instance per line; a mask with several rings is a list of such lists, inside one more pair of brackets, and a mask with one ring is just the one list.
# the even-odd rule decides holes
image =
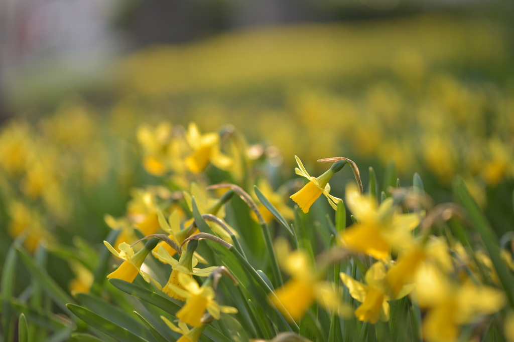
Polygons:
[[398,213],[393,208],[393,198],[387,198],[377,207],[375,200],[359,194],[357,187],[349,184],[346,206],[357,217],[358,223],[341,235],[343,247],[380,260],[389,256],[392,247],[405,250],[412,245],[410,232],[419,224],[419,214]]

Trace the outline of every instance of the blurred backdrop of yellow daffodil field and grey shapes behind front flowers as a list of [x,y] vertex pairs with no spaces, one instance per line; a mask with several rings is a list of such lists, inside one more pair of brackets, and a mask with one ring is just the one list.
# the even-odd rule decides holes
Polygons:
[[513,13],[507,1],[2,2],[0,260],[25,230],[29,249],[100,244],[104,215],[159,182],[136,132],[163,120],[233,125],[280,179],[295,154],[317,171],[344,156],[384,187],[418,172],[441,203],[460,174],[501,236],[514,218]]

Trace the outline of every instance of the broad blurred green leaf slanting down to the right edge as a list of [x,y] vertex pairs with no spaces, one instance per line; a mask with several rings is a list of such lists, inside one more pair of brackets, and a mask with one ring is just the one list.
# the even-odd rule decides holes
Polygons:
[[474,230],[479,232],[484,242],[485,248],[491,258],[492,264],[498,274],[498,278],[505,290],[505,295],[509,301],[510,307],[514,308],[514,280],[509,270],[500,257],[500,246],[498,238],[487,222],[484,214],[480,211],[479,206],[475,203],[468,192],[464,180],[461,177],[455,177],[453,182],[453,193],[457,197],[458,202],[467,211],[469,223]]

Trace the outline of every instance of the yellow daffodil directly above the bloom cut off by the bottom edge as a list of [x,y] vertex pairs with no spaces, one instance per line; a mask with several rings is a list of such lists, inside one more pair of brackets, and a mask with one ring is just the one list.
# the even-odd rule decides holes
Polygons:
[[216,294],[210,286],[212,281],[209,279],[201,286],[198,286],[196,280],[189,277],[185,273],[178,274],[178,284],[180,288],[171,285],[173,291],[181,297],[186,298],[186,305],[177,312],[177,318],[192,327],[201,327],[201,317],[205,310],[211,314],[214,319],[221,318],[220,313],[237,313],[237,309],[233,307],[219,305],[214,300]]

